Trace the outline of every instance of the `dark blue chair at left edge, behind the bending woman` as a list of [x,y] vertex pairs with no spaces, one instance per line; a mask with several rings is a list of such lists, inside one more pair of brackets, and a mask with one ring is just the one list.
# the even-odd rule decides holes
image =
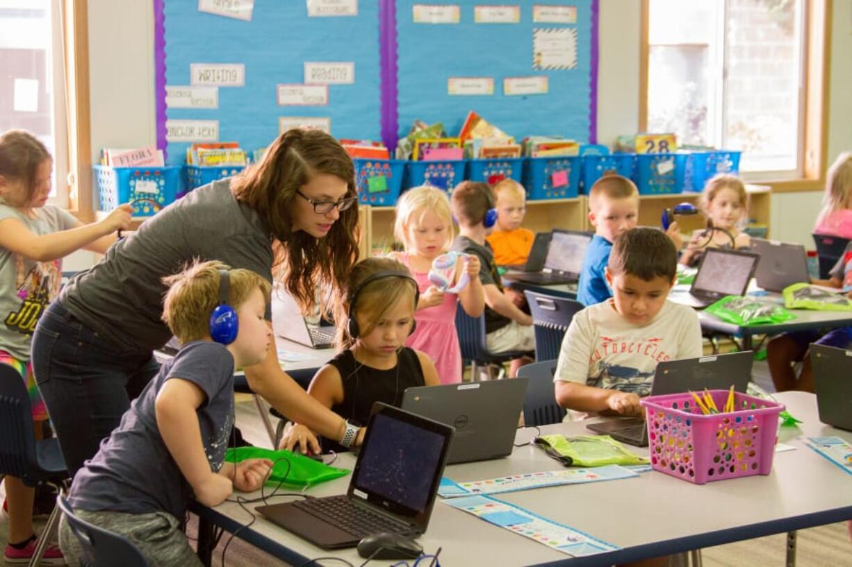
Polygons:
[[[0,364],[0,479],[6,475],[20,478],[27,486],[49,483],[60,495],[66,492],[68,471],[59,441],[36,441],[24,380],[9,364]],[[31,565],[41,561],[58,519],[59,511],[54,508],[38,537]]]

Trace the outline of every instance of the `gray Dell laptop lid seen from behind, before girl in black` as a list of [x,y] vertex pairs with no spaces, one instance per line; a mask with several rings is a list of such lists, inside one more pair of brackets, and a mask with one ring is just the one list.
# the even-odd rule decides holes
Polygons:
[[447,464],[512,452],[528,378],[407,388],[402,409],[456,428]]

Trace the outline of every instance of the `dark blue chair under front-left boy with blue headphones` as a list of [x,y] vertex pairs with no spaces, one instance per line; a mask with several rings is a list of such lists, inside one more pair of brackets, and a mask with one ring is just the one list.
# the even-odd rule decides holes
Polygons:
[[78,518],[62,496],[56,500],[56,506],[65,514],[68,527],[80,542],[80,567],[148,567],[139,548],[126,537]]

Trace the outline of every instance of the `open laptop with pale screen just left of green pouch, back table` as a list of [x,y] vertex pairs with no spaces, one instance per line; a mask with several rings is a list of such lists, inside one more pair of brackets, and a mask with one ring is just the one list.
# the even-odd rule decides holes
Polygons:
[[669,301],[703,309],[725,295],[745,295],[758,256],[742,250],[708,248],[688,292],[672,291]]

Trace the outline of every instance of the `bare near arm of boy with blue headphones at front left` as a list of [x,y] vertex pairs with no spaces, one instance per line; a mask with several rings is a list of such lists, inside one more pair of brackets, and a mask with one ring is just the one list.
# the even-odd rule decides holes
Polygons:
[[206,399],[191,381],[170,378],[154,404],[157,428],[183,478],[193,487],[195,499],[204,506],[218,506],[233,492],[231,480],[210,469],[201,442],[199,417],[195,410]]

